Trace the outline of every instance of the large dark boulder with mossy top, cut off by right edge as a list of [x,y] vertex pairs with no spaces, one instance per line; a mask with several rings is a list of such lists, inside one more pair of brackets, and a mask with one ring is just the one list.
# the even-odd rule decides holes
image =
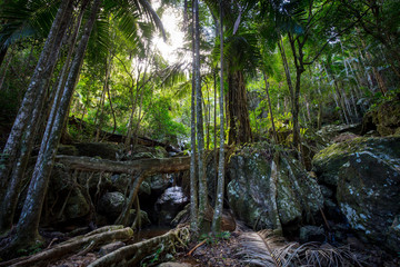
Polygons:
[[359,236],[400,250],[400,137],[336,144],[314,165],[322,182],[337,186],[340,209]]

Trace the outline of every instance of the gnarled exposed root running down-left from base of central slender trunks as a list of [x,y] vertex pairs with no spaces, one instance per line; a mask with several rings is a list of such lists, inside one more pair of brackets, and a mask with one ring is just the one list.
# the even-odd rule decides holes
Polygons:
[[139,266],[140,261],[161,247],[163,253],[173,251],[176,246],[186,246],[189,240],[189,227],[176,228],[162,236],[117,249],[88,267]]

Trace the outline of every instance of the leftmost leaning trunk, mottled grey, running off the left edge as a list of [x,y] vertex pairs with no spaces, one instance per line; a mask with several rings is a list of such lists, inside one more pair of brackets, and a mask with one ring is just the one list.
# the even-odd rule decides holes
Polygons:
[[[58,52],[61,47],[61,41],[57,41],[57,38],[60,33],[63,21],[72,11],[72,0],[61,2],[11,132],[4,145],[3,152],[0,155],[0,164],[4,165],[4,167],[0,169],[0,199],[2,199],[4,192],[3,190],[9,182],[11,168],[18,159],[24,130],[29,123],[31,115],[33,113],[33,109],[37,108],[34,107],[36,99],[38,96],[44,97],[44,93],[41,92],[47,90],[47,86],[49,85],[52,76]],[[57,57],[54,58],[54,56]],[[43,99],[41,101],[43,101]]]

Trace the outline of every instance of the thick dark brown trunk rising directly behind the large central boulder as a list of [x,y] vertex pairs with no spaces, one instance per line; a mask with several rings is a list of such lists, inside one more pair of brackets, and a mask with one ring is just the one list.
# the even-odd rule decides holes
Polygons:
[[244,144],[252,140],[246,81],[240,70],[228,72],[228,112],[229,139],[228,144]]

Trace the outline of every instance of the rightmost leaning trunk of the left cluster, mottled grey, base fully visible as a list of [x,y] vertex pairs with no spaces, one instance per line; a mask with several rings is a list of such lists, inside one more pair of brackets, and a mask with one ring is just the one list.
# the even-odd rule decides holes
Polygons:
[[17,239],[14,240],[16,243],[20,243],[20,245],[21,243],[24,243],[24,245],[30,245],[34,243],[39,237],[39,221],[49,184],[50,172],[57,152],[57,146],[61,137],[63,121],[67,116],[68,107],[70,105],[74,87],[79,79],[79,73],[83,63],[83,57],[88,46],[89,37],[93,29],[93,24],[101,1],[102,0],[94,0],[92,4],[90,17],[84,27],[84,31],[77,49],[77,53],[72,60],[72,65],[66,82],[60,105],[57,110],[54,122],[51,123],[51,121],[49,121],[47,126],[46,131],[50,132],[50,135],[48,135],[48,139],[42,139],[38,160],[32,175],[32,180],[28,189],[21,217],[17,225]]

